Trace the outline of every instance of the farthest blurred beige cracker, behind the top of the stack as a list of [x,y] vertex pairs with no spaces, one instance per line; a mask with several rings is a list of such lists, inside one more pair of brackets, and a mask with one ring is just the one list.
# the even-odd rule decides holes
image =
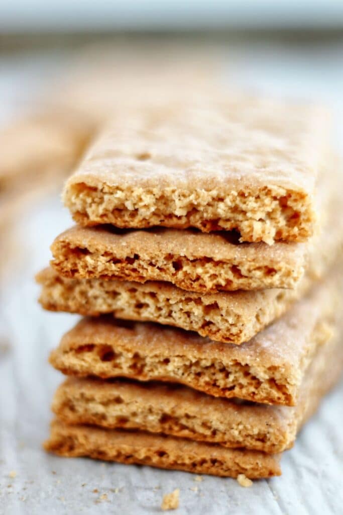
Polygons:
[[[201,97],[224,87],[216,45],[93,45],[69,63],[46,95],[47,109],[86,115],[95,124],[122,109]],[[63,94],[61,94],[63,91]]]

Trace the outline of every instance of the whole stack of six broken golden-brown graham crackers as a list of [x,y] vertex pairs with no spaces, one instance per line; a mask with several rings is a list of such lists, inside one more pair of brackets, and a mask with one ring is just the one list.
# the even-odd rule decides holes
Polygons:
[[280,474],[343,368],[329,126],[315,106],[232,96],[103,131],[65,186],[79,225],[38,275],[44,308],[86,316],[50,357],[67,379],[48,451]]

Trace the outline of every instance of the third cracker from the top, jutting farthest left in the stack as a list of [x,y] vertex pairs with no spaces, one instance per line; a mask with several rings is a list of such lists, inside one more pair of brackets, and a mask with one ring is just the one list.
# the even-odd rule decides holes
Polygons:
[[51,269],[37,276],[46,310],[85,316],[113,314],[196,331],[214,341],[240,345],[281,316],[308,290],[304,277],[294,290],[223,291],[200,295],[168,283],[68,279]]

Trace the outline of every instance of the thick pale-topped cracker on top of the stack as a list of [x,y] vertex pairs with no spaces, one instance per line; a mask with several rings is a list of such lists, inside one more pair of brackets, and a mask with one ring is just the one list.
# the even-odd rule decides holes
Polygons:
[[84,226],[304,241],[329,132],[319,107],[237,95],[121,112],[67,181],[64,202]]

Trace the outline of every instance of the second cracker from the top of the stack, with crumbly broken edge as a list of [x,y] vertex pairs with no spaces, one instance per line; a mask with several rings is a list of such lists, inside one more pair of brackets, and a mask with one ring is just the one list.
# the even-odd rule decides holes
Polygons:
[[308,245],[239,243],[232,233],[192,230],[118,231],[73,227],[55,239],[51,265],[65,277],[168,281],[200,293],[293,288]]

